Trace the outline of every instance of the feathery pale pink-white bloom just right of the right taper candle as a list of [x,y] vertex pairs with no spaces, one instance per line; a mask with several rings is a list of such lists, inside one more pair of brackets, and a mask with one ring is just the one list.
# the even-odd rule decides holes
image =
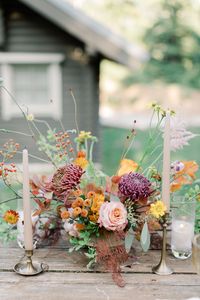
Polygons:
[[170,146],[172,151],[182,149],[184,146],[189,145],[188,142],[197,136],[197,134],[188,131],[185,127],[185,123],[177,117],[171,118],[170,127]]

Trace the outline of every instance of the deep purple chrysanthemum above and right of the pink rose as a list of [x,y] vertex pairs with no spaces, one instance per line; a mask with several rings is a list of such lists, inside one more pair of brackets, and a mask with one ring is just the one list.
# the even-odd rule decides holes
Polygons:
[[146,199],[152,192],[150,181],[143,175],[133,172],[121,177],[118,188],[119,196],[131,200]]

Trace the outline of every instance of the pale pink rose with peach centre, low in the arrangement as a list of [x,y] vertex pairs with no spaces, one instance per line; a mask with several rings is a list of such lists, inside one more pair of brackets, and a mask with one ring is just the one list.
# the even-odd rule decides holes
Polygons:
[[107,230],[120,231],[127,225],[127,211],[121,202],[104,202],[99,211],[98,223]]

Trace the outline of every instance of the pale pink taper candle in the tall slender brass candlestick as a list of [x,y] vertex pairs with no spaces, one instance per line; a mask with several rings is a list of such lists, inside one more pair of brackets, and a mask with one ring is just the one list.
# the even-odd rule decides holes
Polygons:
[[162,173],[162,200],[170,209],[170,112],[166,112],[164,143],[163,143],[163,173]]

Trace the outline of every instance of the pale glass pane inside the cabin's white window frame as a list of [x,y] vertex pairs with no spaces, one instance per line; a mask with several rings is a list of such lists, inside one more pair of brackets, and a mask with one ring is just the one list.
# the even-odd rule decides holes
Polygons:
[[14,95],[20,104],[49,103],[47,64],[16,64],[12,68]]

